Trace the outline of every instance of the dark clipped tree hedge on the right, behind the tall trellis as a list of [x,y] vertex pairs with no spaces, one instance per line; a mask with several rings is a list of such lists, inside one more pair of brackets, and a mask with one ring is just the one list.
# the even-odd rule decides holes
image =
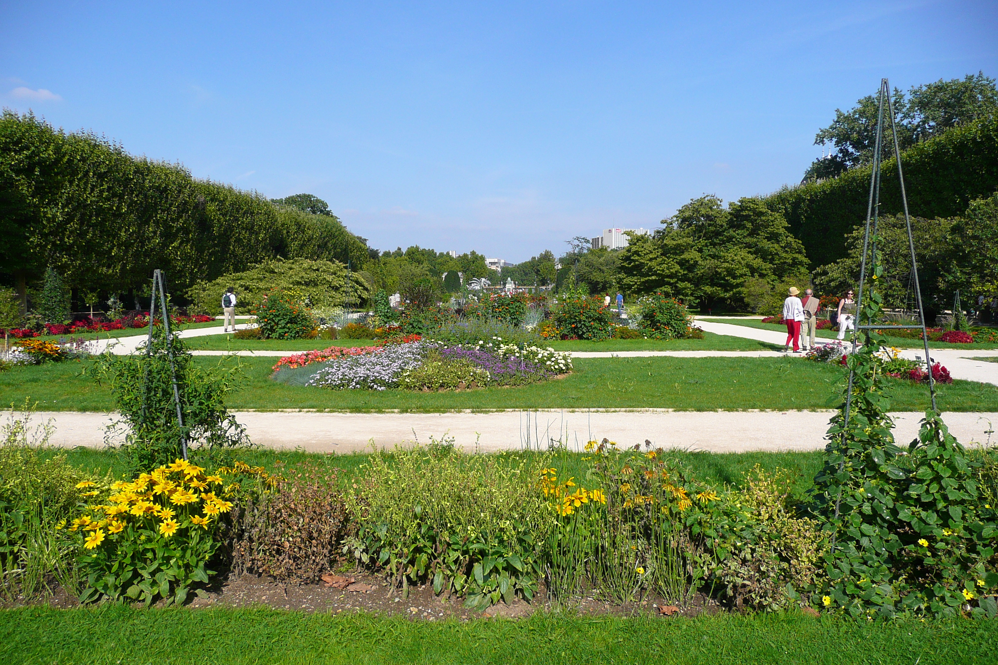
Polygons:
[[[955,128],[918,144],[901,157],[908,209],[919,217],[962,214],[974,198],[998,190],[998,119]],[[845,237],[866,219],[872,166],[838,177],[785,187],[766,196],[804,244],[811,266],[846,254]],[[885,161],[880,175],[880,212],[902,211],[897,165]]]

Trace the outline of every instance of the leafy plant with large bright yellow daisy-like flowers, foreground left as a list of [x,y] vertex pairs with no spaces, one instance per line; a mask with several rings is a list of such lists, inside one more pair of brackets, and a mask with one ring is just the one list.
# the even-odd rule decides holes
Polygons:
[[177,460],[115,483],[107,504],[73,520],[69,530],[80,534],[87,575],[80,602],[131,598],[148,606],[163,597],[168,605],[183,604],[192,586],[208,583],[215,571],[206,566],[221,544],[220,518],[233,503],[223,498],[222,476],[204,472]]

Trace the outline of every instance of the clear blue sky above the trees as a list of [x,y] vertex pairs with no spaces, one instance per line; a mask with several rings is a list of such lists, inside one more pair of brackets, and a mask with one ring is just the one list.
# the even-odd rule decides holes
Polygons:
[[998,3],[0,2],[0,105],[378,248],[511,261],[799,180],[836,107],[983,70]]

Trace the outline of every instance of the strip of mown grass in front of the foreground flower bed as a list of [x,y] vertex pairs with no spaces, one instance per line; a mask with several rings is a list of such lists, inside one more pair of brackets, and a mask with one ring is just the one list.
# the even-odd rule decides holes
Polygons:
[[124,605],[0,611],[0,661],[41,663],[982,663],[998,621],[869,623],[802,614],[539,613],[428,622],[368,614]]

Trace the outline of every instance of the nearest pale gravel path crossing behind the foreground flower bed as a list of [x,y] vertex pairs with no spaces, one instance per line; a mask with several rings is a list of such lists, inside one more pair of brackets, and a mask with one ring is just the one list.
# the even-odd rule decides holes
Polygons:
[[[235,412],[253,443],[274,449],[301,448],[314,453],[350,453],[371,444],[392,447],[406,441],[428,443],[449,433],[458,446],[481,452],[547,448],[551,439],[581,449],[604,437],[621,446],[646,439],[663,448],[712,453],[808,451],[824,446],[823,435],[833,411],[502,411],[445,414],[344,414],[315,412]],[[907,443],[918,431],[922,414],[892,414],[895,437]],[[113,414],[43,412],[56,433],[52,444],[63,447],[104,445],[103,428]],[[945,413],[950,431],[962,443],[986,443],[998,413]],[[991,440],[994,440],[992,436]]]

